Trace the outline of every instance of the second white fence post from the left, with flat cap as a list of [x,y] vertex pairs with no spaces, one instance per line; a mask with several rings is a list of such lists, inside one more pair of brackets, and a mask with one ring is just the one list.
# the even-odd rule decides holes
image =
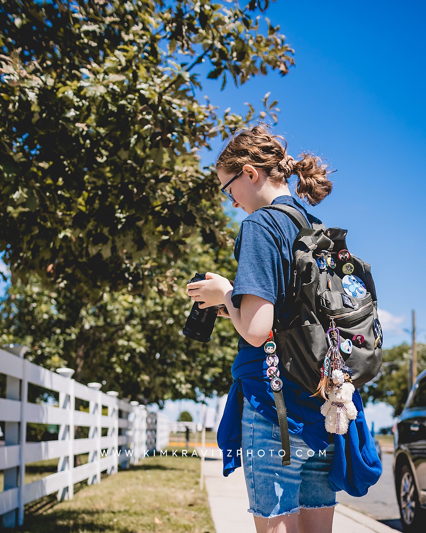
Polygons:
[[[74,484],[72,482],[72,469],[74,467],[74,380],[71,379],[74,374],[72,368],[56,368],[56,372],[68,379],[70,379],[69,394],[65,392],[59,393],[59,409],[64,409],[63,420],[64,422],[59,426],[58,440],[64,440],[68,442],[68,453],[64,453],[59,457],[58,472],[68,470],[68,486],[63,487],[62,490],[58,490],[57,499],[59,501],[71,499],[74,492]],[[64,447],[65,449],[65,447]]]

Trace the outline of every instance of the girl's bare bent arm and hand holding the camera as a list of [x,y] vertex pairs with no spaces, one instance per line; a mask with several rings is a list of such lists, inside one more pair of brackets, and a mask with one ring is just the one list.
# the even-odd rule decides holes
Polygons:
[[259,296],[244,294],[241,308],[235,308],[231,301],[232,285],[219,274],[206,272],[206,280],[187,285],[186,293],[200,309],[225,304],[237,332],[253,346],[261,346],[271,332],[274,320],[274,305]]

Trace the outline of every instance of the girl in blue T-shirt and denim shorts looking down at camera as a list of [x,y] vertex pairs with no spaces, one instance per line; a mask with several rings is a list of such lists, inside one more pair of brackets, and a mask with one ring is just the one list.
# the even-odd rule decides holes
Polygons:
[[[235,241],[238,268],[234,283],[207,272],[206,280],[187,285],[200,308],[225,304],[240,334],[239,352],[232,366],[234,384],[228,394],[218,430],[224,451],[224,475],[241,465],[240,442],[250,509],[258,533],[329,533],[335,491],[329,478],[334,444],[329,442],[323,400],[294,383],[278,361],[283,382],[290,434],[291,464],[283,466],[280,428],[271,382],[267,376],[265,344],[272,330],[274,309],[284,321],[283,310],[290,285],[292,244],[298,229],[270,204],[294,206],[307,218],[305,208],[291,196],[288,179],[298,176],[296,194],[310,205],[330,194],[326,165],[302,154],[295,160],[267,126],[235,134],[216,161],[222,191],[234,207],[248,213]],[[281,137],[282,138],[282,137]],[[283,138],[282,138],[283,139]],[[308,220],[308,219],[307,219]],[[242,400],[242,401],[241,401]],[[330,437],[332,439],[332,435]]]

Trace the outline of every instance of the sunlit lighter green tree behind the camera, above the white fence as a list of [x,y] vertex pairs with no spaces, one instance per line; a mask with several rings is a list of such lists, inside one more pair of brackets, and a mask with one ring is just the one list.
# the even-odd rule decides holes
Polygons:
[[95,305],[80,302],[77,317],[67,308],[72,293],[63,297],[63,291],[44,287],[36,275],[27,284],[17,281],[0,307],[0,340],[32,346],[26,357],[38,365],[69,366],[77,381],[105,381],[103,390],[144,403],[227,391],[236,353],[234,327],[218,318],[207,344],[183,336],[193,304],[184,289],[196,270],[233,277],[236,262],[232,248],[212,258],[200,238],[192,239],[191,251],[168,264],[166,280],[163,265],[150,265],[153,278],[146,297],[105,290]]

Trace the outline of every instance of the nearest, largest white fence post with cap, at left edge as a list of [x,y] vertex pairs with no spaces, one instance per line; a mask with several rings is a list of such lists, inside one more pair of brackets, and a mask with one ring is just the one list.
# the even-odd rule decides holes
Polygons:
[[[22,346],[20,344],[3,344],[3,350],[6,350],[10,353],[13,353],[15,356],[23,358],[24,354],[29,350],[28,346]],[[24,365],[22,372],[25,372]],[[7,376],[6,375],[6,398],[9,400],[20,400],[21,401],[21,413],[20,418],[22,421],[23,416],[23,402],[27,399],[27,387],[24,387],[24,379],[22,379],[22,390],[20,390],[20,379],[17,377]],[[19,431],[19,422],[5,422],[4,423],[4,446],[13,446],[20,444],[19,448],[19,475],[20,475],[20,485],[18,492],[18,524],[22,526],[23,523],[23,500],[22,500],[22,489],[23,489],[23,479],[21,479],[21,473],[25,475],[25,464],[23,461],[23,441],[26,440],[26,431],[24,424],[21,424],[21,431]],[[23,435],[23,441],[22,441]],[[13,466],[12,468],[4,469],[4,487],[3,490],[13,489],[18,487],[18,466]],[[22,510],[22,512],[21,512]],[[22,522],[20,523],[20,520]],[[2,518],[2,523],[4,528],[14,528],[17,525],[17,510],[13,509],[9,513],[5,513]]]

